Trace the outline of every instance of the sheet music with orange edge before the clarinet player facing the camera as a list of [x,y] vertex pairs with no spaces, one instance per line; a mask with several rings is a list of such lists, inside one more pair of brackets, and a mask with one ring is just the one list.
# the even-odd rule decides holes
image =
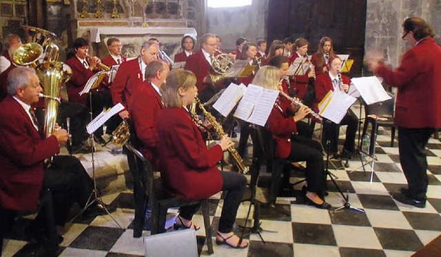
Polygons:
[[341,91],[334,91],[330,95],[328,92],[327,96],[325,96],[324,104],[322,102],[319,104],[319,114],[336,124],[342,121],[349,107],[357,100]]

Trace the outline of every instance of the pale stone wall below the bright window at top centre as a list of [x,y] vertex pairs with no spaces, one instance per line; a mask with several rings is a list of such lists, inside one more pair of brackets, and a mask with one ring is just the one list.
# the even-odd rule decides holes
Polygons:
[[256,43],[266,39],[268,0],[253,1],[251,6],[235,8],[207,8],[207,32],[222,39],[222,48],[236,49],[236,39],[246,37]]

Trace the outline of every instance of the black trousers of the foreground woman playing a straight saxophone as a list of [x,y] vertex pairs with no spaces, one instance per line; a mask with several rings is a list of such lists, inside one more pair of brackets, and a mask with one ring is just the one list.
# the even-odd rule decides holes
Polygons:
[[[222,213],[220,214],[218,232],[229,233],[233,231],[237,210],[242,201],[243,192],[247,187],[247,178],[237,172],[220,172],[223,179],[222,190],[226,192],[223,200]],[[189,205],[179,209],[179,216],[192,220],[200,205]]]

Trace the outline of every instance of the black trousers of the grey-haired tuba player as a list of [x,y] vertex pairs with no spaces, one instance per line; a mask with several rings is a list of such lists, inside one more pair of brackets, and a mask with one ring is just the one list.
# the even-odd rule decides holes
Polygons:
[[93,182],[78,158],[54,156],[50,167],[44,169],[43,187],[52,192],[55,225],[63,226],[72,203],[84,207],[88,202]]

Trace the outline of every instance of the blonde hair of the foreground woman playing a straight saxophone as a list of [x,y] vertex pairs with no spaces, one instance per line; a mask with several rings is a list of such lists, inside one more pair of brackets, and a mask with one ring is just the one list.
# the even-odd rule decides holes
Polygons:
[[196,76],[193,72],[184,69],[172,70],[161,87],[165,107],[182,107],[182,99],[178,93],[179,88],[185,91],[194,87],[194,85],[196,85]]

